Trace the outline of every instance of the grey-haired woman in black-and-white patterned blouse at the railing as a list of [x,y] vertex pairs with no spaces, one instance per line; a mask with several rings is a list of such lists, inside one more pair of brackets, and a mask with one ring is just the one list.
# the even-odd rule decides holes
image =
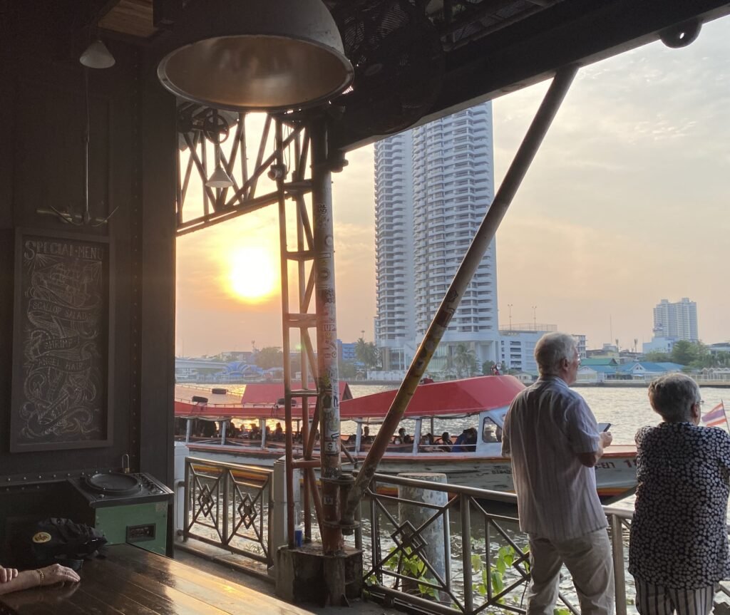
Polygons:
[[730,436],[699,427],[699,387],[667,374],[649,385],[663,422],[637,433],[637,500],[629,572],[641,615],[705,615],[730,576],[726,530]]

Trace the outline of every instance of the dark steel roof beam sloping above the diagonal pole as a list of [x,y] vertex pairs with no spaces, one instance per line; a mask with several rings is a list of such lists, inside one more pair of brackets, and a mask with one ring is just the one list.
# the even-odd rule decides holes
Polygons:
[[[561,66],[610,58],[659,39],[659,32],[698,18],[730,15],[726,0],[564,0],[446,55],[439,98],[415,125],[550,79]],[[702,36],[702,35],[700,35]],[[353,150],[379,139],[332,127],[331,147]]]

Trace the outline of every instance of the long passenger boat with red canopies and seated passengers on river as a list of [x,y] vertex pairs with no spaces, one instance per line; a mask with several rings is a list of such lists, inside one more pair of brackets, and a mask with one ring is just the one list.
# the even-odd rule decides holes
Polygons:
[[[192,455],[254,465],[273,465],[274,460],[283,456],[283,437],[277,440],[274,433],[266,433],[267,421],[283,423],[282,384],[249,384],[242,396],[220,389],[192,396],[192,390],[185,391],[185,388],[188,387],[176,387],[175,416],[187,422],[185,439]],[[413,433],[392,439],[377,471],[445,473],[451,484],[513,491],[510,460],[502,457],[500,440],[507,409],[523,388],[513,376],[420,384],[404,415],[413,419]],[[339,394],[342,421],[353,421],[353,433],[341,436],[342,448],[359,463],[365,459],[372,442],[367,428],[382,422],[396,391],[352,398],[347,384],[341,382]],[[310,417],[314,404],[311,406]],[[301,417],[301,409],[295,408],[293,414],[298,410]],[[191,428],[194,419],[218,422],[220,435],[196,437]],[[250,432],[227,437],[226,427],[232,419],[253,420],[258,425],[258,430],[253,429],[254,437],[251,438]],[[444,434],[434,433],[437,420],[441,426],[458,425],[455,430],[444,430],[458,437],[450,438],[450,442],[442,441]],[[428,436],[437,437],[429,441]],[[301,454],[301,446],[296,445],[295,455],[298,452]],[[636,487],[635,447],[610,446],[596,465],[596,482],[603,503],[631,495]]]

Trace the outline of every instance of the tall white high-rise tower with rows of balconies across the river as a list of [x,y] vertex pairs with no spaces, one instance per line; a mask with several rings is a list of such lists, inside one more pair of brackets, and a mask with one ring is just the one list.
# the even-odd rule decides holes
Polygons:
[[[375,144],[377,318],[383,368],[407,367],[494,192],[491,103]],[[496,360],[496,263],[492,242],[430,371],[458,344]]]

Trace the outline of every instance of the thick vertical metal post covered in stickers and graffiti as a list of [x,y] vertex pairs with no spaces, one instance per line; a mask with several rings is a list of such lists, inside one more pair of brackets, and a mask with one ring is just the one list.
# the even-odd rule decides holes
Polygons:
[[[327,127],[312,123],[312,218],[317,306],[317,391],[320,411],[320,478],[322,484],[322,547],[325,554],[342,552],[339,527],[339,372],[337,313],[334,299],[334,223],[332,178],[328,166]],[[310,436],[311,437],[311,436]]]

